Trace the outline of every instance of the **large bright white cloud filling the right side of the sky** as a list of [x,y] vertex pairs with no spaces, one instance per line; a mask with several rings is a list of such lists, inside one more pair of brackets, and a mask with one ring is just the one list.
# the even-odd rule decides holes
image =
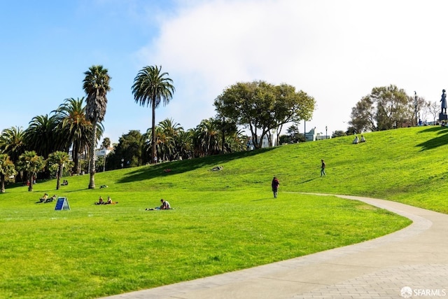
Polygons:
[[194,127],[214,116],[213,100],[229,85],[265,80],[315,97],[311,126],[332,132],[346,129],[351,107],[377,86],[438,100],[446,8],[444,1],[197,1],[160,18],[160,35],[140,54],[176,85],[158,121]]

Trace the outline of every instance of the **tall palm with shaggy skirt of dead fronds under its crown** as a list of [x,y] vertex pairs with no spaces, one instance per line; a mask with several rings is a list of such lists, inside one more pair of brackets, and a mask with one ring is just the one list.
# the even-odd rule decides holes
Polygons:
[[90,183],[89,189],[95,188],[95,147],[97,146],[97,123],[104,120],[107,106],[107,92],[111,90],[109,81],[111,77],[102,65],[93,65],[85,73],[83,89],[87,94],[85,107],[86,119],[92,123],[90,138]]

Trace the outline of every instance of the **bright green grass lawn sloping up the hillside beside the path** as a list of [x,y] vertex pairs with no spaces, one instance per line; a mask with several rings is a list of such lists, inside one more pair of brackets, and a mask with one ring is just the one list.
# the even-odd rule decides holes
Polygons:
[[[38,182],[0,195],[0,298],[97,298],[363,242],[409,221],[365,195],[448,213],[448,130],[406,128]],[[320,176],[320,160],[327,176]],[[223,170],[209,169],[223,165]],[[164,172],[164,169],[172,169]],[[279,198],[270,190],[280,180]],[[69,199],[35,204],[43,193]],[[115,205],[95,206],[99,196]],[[145,211],[168,200],[174,210]]]

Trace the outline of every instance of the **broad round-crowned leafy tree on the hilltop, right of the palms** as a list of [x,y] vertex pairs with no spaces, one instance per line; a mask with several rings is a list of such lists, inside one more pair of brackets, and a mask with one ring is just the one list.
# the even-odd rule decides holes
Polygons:
[[[224,90],[214,105],[218,116],[249,128],[255,148],[271,130],[281,130],[290,121],[309,119],[315,101],[290,85],[272,85],[265,81],[237,83]],[[258,134],[260,132],[260,134]]]

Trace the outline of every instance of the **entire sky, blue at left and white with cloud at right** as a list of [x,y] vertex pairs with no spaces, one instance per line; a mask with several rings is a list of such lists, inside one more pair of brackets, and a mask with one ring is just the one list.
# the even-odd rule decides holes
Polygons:
[[307,129],[346,130],[374,87],[440,100],[447,8],[442,0],[0,0],[0,130],[83,97],[93,64],[112,77],[104,137],[113,142],[151,126],[131,92],[146,65],[161,65],[176,87],[156,123],[195,127],[214,116],[226,87],[265,80],[316,99]]

